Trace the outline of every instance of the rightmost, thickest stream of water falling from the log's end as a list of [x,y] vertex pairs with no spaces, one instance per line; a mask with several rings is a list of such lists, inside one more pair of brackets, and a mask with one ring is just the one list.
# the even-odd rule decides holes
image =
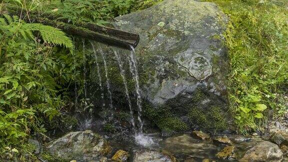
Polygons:
[[137,62],[135,59],[135,50],[132,45],[130,45],[131,51],[129,55],[129,69],[130,72],[132,73],[133,80],[135,81],[135,90],[136,90],[136,95],[137,95],[137,111],[138,111],[138,121],[139,121],[139,130],[138,133],[142,134],[143,133],[143,122],[142,122],[142,100],[141,100],[141,94],[140,94],[140,86],[139,86],[139,75],[137,71]]

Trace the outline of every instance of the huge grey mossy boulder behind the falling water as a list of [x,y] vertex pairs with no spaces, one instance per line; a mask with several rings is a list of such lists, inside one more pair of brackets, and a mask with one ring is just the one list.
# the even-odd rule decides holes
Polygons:
[[[225,86],[229,66],[222,35],[226,23],[227,16],[216,4],[194,0],[164,0],[115,18],[115,28],[140,35],[135,53],[143,113],[163,134],[230,128]],[[124,54],[129,53],[123,53],[122,59]],[[112,56],[112,51],[108,55]],[[120,92],[125,95],[117,64],[115,59],[107,59],[113,102],[123,105],[115,103],[125,102],[125,98],[119,99]],[[129,63],[123,61],[129,75]],[[97,85],[97,75],[92,78],[92,85]],[[126,80],[129,92],[134,92],[130,75]]]

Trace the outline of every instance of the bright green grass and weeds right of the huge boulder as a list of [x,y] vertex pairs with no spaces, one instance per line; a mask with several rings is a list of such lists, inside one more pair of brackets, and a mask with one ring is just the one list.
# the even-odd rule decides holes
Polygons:
[[[287,108],[288,1],[203,1],[215,2],[230,18],[225,45],[230,56],[228,88],[237,130],[263,130],[268,118],[281,116]],[[273,115],[268,116],[268,112]]]

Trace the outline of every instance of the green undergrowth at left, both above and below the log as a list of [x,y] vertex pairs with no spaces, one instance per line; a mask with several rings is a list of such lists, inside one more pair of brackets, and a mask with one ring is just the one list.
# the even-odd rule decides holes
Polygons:
[[[158,0],[160,1],[160,0]],[[53,13],[68,22],[107,24],[113,17],[153,5],[153,0],[3,0],[0,2],[0,159],[31,160],[30,136],[47,138],[48,129],[65,125],[76,97],[83,94],[85,56],[82,38],[59,29],[25,23],[6,14],[6,6],[22,13]],[[142,5],[135,5],[142,4]],[[149,4],[149,5],[146,5]],[[72,41],[74,40],[74,42]],[[86,102],[82,98],[78,100]],[[82,103],[80,103],[82,104]],[[72,121],[74,125],[76,121]],[[67,125],[69,126],[69,125]],[[61,127],[62,128],[62,127]]]

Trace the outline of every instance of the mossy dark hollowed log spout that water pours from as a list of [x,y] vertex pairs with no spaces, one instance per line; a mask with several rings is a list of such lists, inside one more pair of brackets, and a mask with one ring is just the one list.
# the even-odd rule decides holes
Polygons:
[[75,24],[66,23],[65,19],[57,19],[57,16],[52,14],[37,14],[21,12],[18,8],[7,7],[8,14],[18,15],[27,23],[42,23],[44,25],[59,28],[67,34],[77,35],[83,38],[101,42],[111,46],[131,50],[131,46],[135,48],[139,42],[139,35],[131,32],[126,32],[110,27],[100,26],[89,22],[76,22]]

